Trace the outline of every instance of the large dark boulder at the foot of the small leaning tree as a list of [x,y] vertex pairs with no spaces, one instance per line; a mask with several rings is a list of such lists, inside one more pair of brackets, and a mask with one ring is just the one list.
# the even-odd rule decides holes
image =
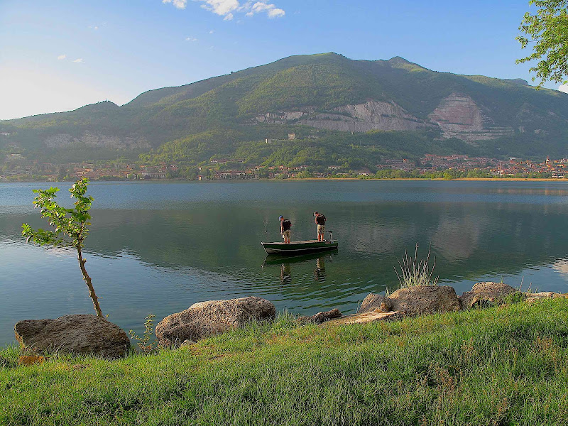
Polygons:
[[14,326],[21,346],[39,354],[65,354],[119,358],[130,349],[123,329],[95,315],[65,315],[55,320],[23,320]]

